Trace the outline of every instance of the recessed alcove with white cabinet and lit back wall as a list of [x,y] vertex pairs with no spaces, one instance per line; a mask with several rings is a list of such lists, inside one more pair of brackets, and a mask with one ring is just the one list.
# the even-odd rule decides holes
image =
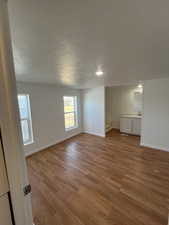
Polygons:
[[106,87],[106,132],[141,135],[143,84]]

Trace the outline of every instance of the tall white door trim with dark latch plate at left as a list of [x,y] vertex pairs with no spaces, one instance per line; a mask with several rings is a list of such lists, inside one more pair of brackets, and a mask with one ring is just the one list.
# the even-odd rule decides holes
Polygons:
[[0,128],[15,223],[32,225],[31,197],[24,196],[23,193],[23,187],[29,182],[22,144],[6,0],[0,0],[0,106]]

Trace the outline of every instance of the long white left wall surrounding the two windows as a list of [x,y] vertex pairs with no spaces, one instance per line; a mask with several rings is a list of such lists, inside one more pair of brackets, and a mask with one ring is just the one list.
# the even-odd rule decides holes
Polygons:
[[[17,83],[17,88],[19,94],[30,96],[34,143],[24,146],[26,155],[82,132],[80,90],[28,83]],[[64,95],[78,98],[79,127],[71,131],[64,128]]]

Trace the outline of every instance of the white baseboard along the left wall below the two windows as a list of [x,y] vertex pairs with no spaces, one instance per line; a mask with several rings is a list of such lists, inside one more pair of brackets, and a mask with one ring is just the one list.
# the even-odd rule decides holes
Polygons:
[[75,137],[75,136],[77,136],[77,135],[79,135],[79,134],[81,134],[81,133],[82,133],[82,132],[79,132],[79,133],[77,133],[77,134],[70,135],[69,137],[62,138],[62,139],[57,140],[57,141],[55,141],[55,142],[53,142],[53,143],[50,143],[50,144],[48,144],[48,145],[45,145],[45,146],[43,146],[43,147],[41,147],[41,148],[34,149],[34,150],[32,150],[32,151],[29,151],[29,152],[28,152],[28,151],[25,151],[25,157],[28,157],[28,156],[31,156],[31,155],[37,153],[37,152],[43,151],[43,150],[45,150],[45,149],[47,149],[47,148],[49,148],[49,147],[52,147],[52,146],[54,146],[54,145],[56,145],[56,144],[59,144],[59,143],[61,143],[61,142],[64,142],[64,141],[66,141],[66,140],[68,140],[68,139],[70,139],[70,138],[72,138],[72,137]]

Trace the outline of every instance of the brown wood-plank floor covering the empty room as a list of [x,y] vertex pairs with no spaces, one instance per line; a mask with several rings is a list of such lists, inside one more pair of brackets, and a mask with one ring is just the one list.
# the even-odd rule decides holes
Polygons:
[[36,225],[167,225],[169,153],[111,131],[27,160]]

